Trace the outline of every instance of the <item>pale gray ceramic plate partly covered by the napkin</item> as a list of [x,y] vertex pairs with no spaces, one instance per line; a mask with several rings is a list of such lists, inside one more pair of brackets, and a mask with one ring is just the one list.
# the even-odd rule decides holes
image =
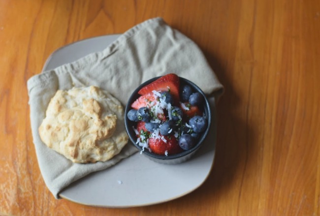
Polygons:
[[[43,71],[101,51],[119,36],[94,37],[64,46],[48,58]],[[191,160],[164,165],[137,153],[109,169],[92,173],[69,185],[60,196],[84,205],[126,208],[166,202],[192,192],[202,185],[213,166],[216,112],[214,100],[210,103],[212,131]]]

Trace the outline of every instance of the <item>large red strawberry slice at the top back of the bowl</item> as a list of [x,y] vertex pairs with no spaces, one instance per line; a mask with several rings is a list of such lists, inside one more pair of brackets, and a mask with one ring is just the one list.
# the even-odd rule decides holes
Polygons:
[[161,92],[170,92],[177,103],[179,101],[179,87],[179,77],[174,73],[169,73],[143,87],[138,93],[144,95],[147,93],[151,93],[154,90]]

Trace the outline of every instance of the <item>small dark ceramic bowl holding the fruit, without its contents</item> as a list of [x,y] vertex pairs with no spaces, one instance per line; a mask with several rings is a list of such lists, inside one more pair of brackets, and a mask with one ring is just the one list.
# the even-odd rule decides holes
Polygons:
[[[132,144],[139,150],[139,151],[142,151],[142,148],[136,144],[136,141],[137,141],[137,137],[136,137],[136,134],[134,132],[134,130],[132,129],[132,126],[136,127],[136,122],[132,122],[130,120],[128,120],[128,112],[129,110],[131,110],[131,104],[139,97],[141,96],[140,94],[138,94],[138,91],[152,83],[153,81],[155,81],[156,79],[158,79],[160,77],[155,77],[155,78],[152,78],[146,82],[144,82],[143,84],[141,84],[130,96],[129,100],[128,100],[128,103],[127,103],[127,106],[126,106],[126,111],[125,111],[125,124],[126,124],[126,129],[127,129],[127,133],[129,135],[129,138],[132,142]],[[146,155],[149,159],[153,160],[153,161],[156,161],[156,162],[159,162],[159,163],[164,163],[164,164],[176,164],[176,163],[181,163],[181,162],[184,162],[186,160],[188,160],[189,158],[192,157],[193,154],[195,154],[195,152],[200,148],[201,144],[203,143],[205,137],[207,136],[208,134],[208,131],[210,130],[210,124],[211,124],[211,112],[210,112],[210,104],[209,104],[209,101],[206,97],[206,95],[202,92],[202,90],[196,86],[194,83],[192,83],[190,80],[187,80],[187,79],[184,79],[182,77],[179,77],[180,79],[180,87],[188,84],[192,87],[193,91],[194,92],[199,92],[203,95],[204,97],[204,107],[203,107],[203,110],[204,110],[204,116],[207,120],[207,129],[201,134],[201,136],[199,137],[199,139],[197,140],[196,142],[196,145],[190,149],[190,150],[187,150],[187,151],[183,151],[179,154],[171,154],[171,155],[159,155],[159,154],[154,154],[152,152],[149,152],[148,149],[145,149],[142,154]]]

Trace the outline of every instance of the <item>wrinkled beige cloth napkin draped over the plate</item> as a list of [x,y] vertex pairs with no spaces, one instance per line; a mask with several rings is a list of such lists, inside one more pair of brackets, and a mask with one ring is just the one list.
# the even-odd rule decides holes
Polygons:
[[47,148],[39,137],[38,127],[56,91],[95,85],[112,93],[125,106],[130,94],[141,83],[167,73],[191,80],[210,96],[219,97],[223,93],[223,86],[196,44],[161,18],[131,28],[102,52],[92,53],[28,80],[33,143],[43,179],[56,198],[72,182],[113,166],[137,152],[128,143],[109,161],[77,164]]

